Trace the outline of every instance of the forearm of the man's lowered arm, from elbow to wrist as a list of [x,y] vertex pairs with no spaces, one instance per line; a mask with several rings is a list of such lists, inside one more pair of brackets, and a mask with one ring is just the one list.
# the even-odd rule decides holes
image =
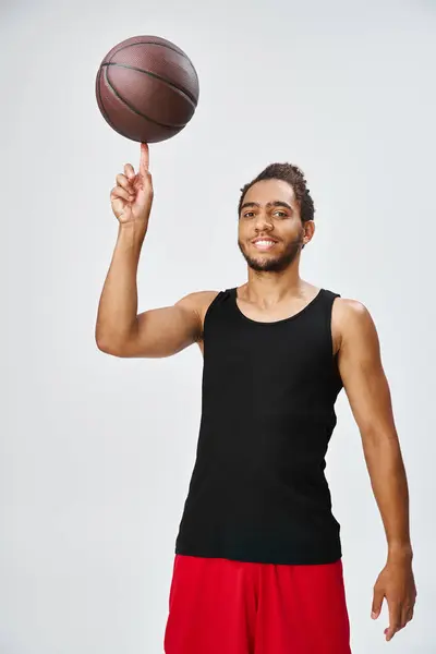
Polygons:
[[388,544],[388,558],[412,558],[409,488],[397,434],[364,438],[364,453]]

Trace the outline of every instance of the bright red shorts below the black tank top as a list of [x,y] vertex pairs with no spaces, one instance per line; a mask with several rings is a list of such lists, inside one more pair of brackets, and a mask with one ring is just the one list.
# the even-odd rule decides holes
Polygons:
[[351,654],[342,561],[275,565],[177,554],[166,654]]

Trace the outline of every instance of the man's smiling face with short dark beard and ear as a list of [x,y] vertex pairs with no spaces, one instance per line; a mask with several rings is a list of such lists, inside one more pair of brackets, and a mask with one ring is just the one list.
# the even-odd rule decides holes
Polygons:
[[250,268],[284,270],[299,255],[306,235],[290,184],[264,180],[249,189],[239,217],[238,245]]

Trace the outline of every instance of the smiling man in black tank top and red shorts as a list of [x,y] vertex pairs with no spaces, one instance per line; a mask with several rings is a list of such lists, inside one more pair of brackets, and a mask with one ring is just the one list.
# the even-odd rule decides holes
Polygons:
[[388,543],[374,585],[386,640],[416,597],[405,472],[377,332],[364,305],[299,275],[315,231],[302,171],[271,165],[242,189],[240,288],[137,315],[153,203],[148,148],[117,175],[120,222],[96,341],[114,356],[204,355],[197,455],[175,544],[167,654],[349,654],[339,523],[324,475],[344,388]]

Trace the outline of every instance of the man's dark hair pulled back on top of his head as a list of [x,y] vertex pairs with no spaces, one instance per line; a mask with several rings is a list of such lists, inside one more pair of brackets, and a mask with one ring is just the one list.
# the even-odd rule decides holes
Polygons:
[[303,171],[292,164],[270,164],[254,180],[241,189],[241,197],[238,205],[238,216],[241,215],[241,207],[246,192],[257,182],[264,180],[282,180],[292,186],[295,198],[300,204],[301,221],[313,220],[315,215],[314,202],[307,189],[307,183]]

